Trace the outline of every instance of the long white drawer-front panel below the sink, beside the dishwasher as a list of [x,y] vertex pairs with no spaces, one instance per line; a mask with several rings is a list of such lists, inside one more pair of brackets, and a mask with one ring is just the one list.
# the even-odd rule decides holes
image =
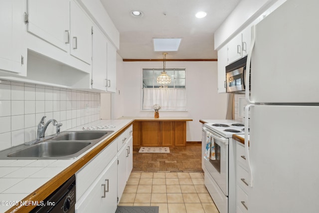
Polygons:
[[117,154],[117,140],[114,140],[97,156],[82,167],[76,175],[76,201],[90,187],[99,174],[111,162]]

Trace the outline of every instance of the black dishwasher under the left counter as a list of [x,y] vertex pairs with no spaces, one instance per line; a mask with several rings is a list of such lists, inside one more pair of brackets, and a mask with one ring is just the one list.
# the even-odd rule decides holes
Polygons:
[[30,213],[74,213],[75,175],[49,195]]

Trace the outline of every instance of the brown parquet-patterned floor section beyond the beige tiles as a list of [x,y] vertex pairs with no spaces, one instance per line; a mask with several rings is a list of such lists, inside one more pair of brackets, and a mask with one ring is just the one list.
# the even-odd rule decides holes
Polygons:
[[169,153],[139,153],[133,148],[133,172],[202,172],[201,144],[169,148]]

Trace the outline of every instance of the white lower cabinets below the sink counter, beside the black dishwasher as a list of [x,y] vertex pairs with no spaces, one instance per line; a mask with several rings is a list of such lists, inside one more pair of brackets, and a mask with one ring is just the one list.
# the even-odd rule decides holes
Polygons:
[[131,125],[75,174],[76,213],[116,212],[133,169],[132,133]]

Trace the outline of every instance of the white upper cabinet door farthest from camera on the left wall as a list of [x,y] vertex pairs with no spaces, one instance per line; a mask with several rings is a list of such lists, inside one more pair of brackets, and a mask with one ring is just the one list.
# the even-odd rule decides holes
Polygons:
[[107,49],[107,91],[116,92],[116,48],[108,42]]

